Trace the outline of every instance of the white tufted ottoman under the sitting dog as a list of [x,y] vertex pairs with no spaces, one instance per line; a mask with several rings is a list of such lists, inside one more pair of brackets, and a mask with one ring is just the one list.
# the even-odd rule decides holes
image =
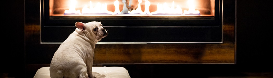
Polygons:
[[[130,78],[124,67],[92,67],[92,73],[96,78]],[[34,78],[50,78],[49,67],[41,67]]]

